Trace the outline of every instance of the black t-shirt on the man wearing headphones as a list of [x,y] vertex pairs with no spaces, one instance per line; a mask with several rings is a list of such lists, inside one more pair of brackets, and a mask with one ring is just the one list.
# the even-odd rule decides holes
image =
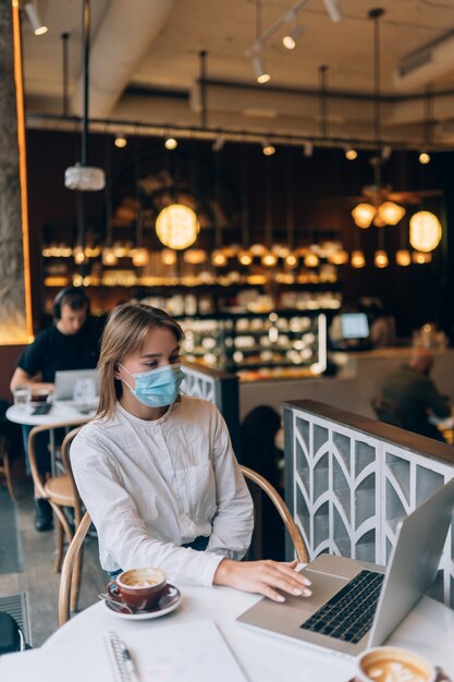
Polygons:
[[23,351],[17,367],[30,377],[40,372],[46,383],[53,383],[56,372],[93,369],[99,357],[100,327],[93,317],[88,317],[75,334],[64,334],[56,326],[49,327]]

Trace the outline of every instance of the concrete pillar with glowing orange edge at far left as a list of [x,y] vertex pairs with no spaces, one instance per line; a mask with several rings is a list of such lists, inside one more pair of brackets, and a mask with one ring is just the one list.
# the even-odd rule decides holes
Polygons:
[[[14,16],[13,16],[14,14]],[[14,24],[14,26],[13,26]],[[26,215],[25,132],[22,70],[14,78],[14,40],[19,36],[19,9],[0,0],[0,344],[29,341],[26,283],[28,282],[28,228]],[[19,118],[17,100],[19,95]],[[19,122],[17,122],[19,121]],[[19,136],[21,138],[21,159]],[[23,144],[22,144],[23,143]],[[20,162],[21,161],[21,162]],[[22,184],[22,186],[21,186]],[[24,248],[25,244],[25,248]],[[24,267],[24,254],[26,267]]]

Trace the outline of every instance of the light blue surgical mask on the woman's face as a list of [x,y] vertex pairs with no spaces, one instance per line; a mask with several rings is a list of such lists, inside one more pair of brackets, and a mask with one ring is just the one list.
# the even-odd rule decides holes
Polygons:
[[[121,363],[119,365],[127,372]],[[138,374],[127,372],[127,374],[134,377],[136,387],[135,389],[132,388],[124,379],[122,379],[123,383],[127,386],[134,398],[137,398],[140,403],[148,407],[164,407],[174,403],[184,379],[184,372],[180,363],[149,372]]]

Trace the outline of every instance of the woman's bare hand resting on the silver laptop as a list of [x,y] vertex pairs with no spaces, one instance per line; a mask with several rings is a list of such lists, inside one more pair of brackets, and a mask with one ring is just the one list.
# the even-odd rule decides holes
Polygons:
[[295,571],[296,561],[232,561],[222,559],[214,577],[214,585],[228,585],[243,592],[253,592],[273,601],[285,601],[278,589],[293,596],[309,597],[309,579]]

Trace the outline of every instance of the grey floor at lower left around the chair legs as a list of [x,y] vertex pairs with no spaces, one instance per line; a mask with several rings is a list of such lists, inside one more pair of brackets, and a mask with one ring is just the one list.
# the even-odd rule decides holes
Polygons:
[[[58,629],[58,590],[60,575],[53,572],[53,532],[37,533],[33,524],[33,490],[28,484],[15,484],[17,524],[24,571],[0,575],[0,597],[26,594],[32,646],[40,646]],[[0,528],[2,520],[0,519]],[[0,531],[1,532],[1,531]],[[79,609],[97,600],[107,583],[98,561],[98,543],[87,538],[79,596]]]

